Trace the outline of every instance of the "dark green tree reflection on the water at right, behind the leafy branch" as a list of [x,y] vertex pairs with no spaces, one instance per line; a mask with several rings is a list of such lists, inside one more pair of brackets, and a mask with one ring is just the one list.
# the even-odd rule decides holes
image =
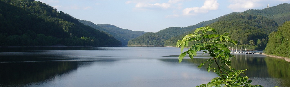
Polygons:
[[[244,73],[248,77],[274,77],[274,78],[290,78],[290,63],[282,59],[277,58],[265,58],[260,57],[260,54],[234,54],[236,59],[230,58],[232,61],[231,65],[233,68],[238,70],[248,69]],[[178,62],[178,59],[160,59],[166,62]],[[194,63],[193,68],[207,59],[184,59],[182,62]],[[204,64],[207,67],[208,64]],[[216,67],[213,64],[213,67]],[[200,68],[201,70],[207,70],[206,68]],[[278,73],[278,74],[277,74]]]

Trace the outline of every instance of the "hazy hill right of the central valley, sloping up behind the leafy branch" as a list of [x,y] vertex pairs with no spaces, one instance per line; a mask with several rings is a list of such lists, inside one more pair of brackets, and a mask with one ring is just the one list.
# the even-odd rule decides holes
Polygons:
[[217,21],[218,18],[212,19],[210,21],[202,21],[193,26],[187,27],[170,27],[163,30],[160,30],[156,33],[150,32],[146,33],[135,39],[128,41],[128,45],[145,45],[145,46],[164,46],[165,40],[170,39],[171,37],[176,37],[187,33],[195,28],[199,28]]

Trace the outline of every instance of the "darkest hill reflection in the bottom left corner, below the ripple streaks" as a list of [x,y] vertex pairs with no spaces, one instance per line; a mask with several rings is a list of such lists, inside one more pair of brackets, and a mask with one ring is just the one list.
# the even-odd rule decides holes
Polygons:
[[77,62],[69,61],[0,63],[0,86],[19,86],[45,81],[54,75],[75,70],[77,65]]

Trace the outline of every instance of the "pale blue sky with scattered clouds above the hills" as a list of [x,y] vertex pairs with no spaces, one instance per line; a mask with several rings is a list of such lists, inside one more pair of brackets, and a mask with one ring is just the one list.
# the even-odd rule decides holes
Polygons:
[[95,24],[158,32],[187,27],[232,12],[263,9],[290,0],[35,0]]

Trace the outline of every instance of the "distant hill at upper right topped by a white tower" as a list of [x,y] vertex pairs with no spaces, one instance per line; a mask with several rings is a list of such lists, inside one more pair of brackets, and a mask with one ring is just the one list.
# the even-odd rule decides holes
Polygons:
[[242,13],[252,14],[252,15],[262,15],[269,19],[273,19],[279,25],[282,25],[285,21],[290,20],[290,4],[283,3],[277,6],[264,8],[262,10],[257,10],[257,9],[246,10]]

